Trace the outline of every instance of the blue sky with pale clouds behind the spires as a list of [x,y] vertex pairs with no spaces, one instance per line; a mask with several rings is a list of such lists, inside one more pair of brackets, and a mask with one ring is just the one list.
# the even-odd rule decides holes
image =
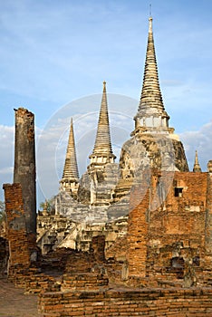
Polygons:
[[[151,6],[159,82],[170,126],[184,142],[190,167],[198,149],[206,170],[207,161],[212,159],[212,2],[152,0]],[[86,114],[95,112],[92,118],[97,118],[105,80],[111,96],[133,100],[124,110],[115,105],[110,108],[109,103],[110,110],[124,113],[120,125],[124,124],[130,136],[137,110],[134,101],[140,99],[148,18],[149,1],[0,0],[2,183],[12,182],[14,108],[32,110],[37,136],[43,136],[42,131],[60,115],[67,125],[71,116],[79,122],[81,116],[91,119]],[[73,104],[96,94],[99,100],[95,97],[93,103]],[[67,104],[70,107],[64,112]],[[90,127],[89,122],[85,120],[84,126]],[[78,139],[82,132],[79,126],[74,124]],[[91,129],[94,131],[94,126]],[[59,138],[59,130],[50,134],[49,142],[58,142],[53,138]],[[60,133],[65,135],[64,130]],[[91,144],[94,135],[89,137]],[[42,157],[45,164],[50,158],[39,153],[38,166],[45,168]],[[45,177],[51,178],[47,170]],[[44,196],[55,190],[56,185]]]

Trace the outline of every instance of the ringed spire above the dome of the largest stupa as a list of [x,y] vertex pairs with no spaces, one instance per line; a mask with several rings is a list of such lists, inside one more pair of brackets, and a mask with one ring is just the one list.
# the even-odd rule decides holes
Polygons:
[[152,32],[151,16],[149,17],[149,36],[140,106],[134,120],[136,121],[136,128],[140,126],[169,127],[169,115],[165,111],[162,94],[159,88],[159,74]]

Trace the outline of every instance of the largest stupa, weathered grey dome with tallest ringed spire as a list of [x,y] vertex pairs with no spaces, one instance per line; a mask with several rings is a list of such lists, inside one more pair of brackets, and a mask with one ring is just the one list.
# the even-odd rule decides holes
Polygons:
[[115,201],[140,183],[142,171],[153,169],[188,171],[188,163],[182,143],[169,128],[167,114],[159,88],[158,67],[149,18],[149,38],[139,110],[134,117],[135,130],[120,152],[120,180],[115,189]]

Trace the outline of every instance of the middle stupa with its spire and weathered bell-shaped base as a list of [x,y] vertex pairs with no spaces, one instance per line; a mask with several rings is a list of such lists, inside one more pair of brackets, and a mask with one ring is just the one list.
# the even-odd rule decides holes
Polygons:
[[[118,166],[111,149],[111,135],[109,127],[108,103],[106,82],[103,82],[101,110],[96,133],[95,145],[89,159],[90,165],[82,176],[79,190],[79,199],[91,206],[103,207],[111,204],[111,192],[115,186]],[[86,181],[88,179],[88,181]],[[88,187],[89,200],[84,198],[84,187]],[[96,210],[98,213],[98,209]]]

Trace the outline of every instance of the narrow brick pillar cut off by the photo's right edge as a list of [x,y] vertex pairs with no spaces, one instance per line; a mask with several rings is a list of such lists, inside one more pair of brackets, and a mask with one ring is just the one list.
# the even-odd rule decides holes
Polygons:
[[207,163],[206,251],[212,254],[212,160]]

